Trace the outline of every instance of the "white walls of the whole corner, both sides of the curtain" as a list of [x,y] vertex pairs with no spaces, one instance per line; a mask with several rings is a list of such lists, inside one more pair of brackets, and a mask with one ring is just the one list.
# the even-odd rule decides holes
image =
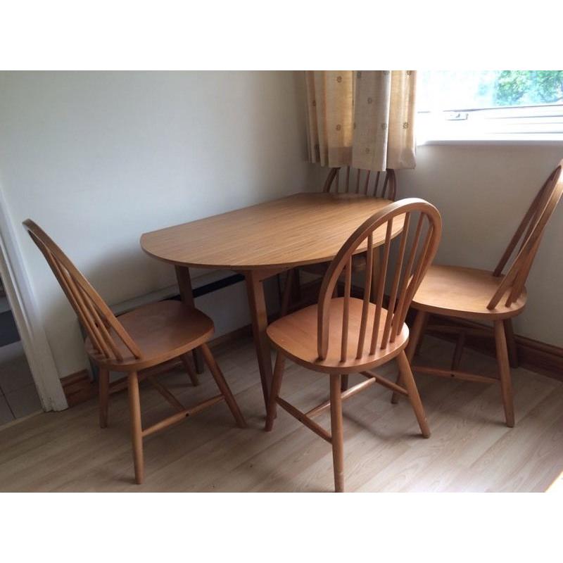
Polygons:
[[[77,320],[21,221],[32,217],[108,303],[175,283],[139,235],[300,189],[305,100],[292,72],[0,72],[0,189],[59,375],[86,365]],[[435,203],[438,260],[492,268],[563,146],[419,146],[399,196]],[[563,346],[563,205],[517,333]],[[204,296],[217,334],[248,322],[243,284]]]

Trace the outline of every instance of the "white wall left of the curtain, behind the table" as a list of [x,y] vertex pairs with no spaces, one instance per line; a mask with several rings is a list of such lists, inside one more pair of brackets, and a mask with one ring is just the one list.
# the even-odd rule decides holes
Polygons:
[[[307,189],[301,73],[0,72],[0,189],[60,377],[77,320],[20,223],[31,217],[110,304],[175,283],[142,232]],[[248,323],[243,285],[200,304]]]

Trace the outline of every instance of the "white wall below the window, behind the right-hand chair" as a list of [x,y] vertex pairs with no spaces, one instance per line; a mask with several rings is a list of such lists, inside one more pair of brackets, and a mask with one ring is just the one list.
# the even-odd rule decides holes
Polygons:
[[[398,197],[434,203],[443,219],[436,262],[493,270],[533,196],[563,158],[554,145],[424,145],[398,174]],[[552,215],[526,284],[517,334],[563,346],[563,202]]]

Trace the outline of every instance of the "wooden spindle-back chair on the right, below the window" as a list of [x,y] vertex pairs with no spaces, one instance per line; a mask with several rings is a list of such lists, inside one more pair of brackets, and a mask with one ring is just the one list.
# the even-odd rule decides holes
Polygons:
[[[526,305],[527,295],[524,284],[538,251],[545,225],[563,193],[562,165],[563,160],[541,187],[495,270],[490,272],[469,267],[432,265],[412,301],[412,307],[417,310],[417,317],[407,347],[407,358],[411,362],[426,328],[448,332],[453,330],[450,326],[426,327],[429,313],[462,319],[466,322],[469,320],[493,323],[498,379],[462,372],[458,369],[466,334],[491,336],[491,329],[481,327],[479,324],[459,331],[450,369],[418,365],[413,366],[412,369],[414,372],[441,377],[454,377],[487,384],[500,383],[506,424],[510,427],[514,426],[510,365],[512,367],[518,365],[511,319],[519,315]],[[392,400],[396,402],[398,396],[393,394]]]

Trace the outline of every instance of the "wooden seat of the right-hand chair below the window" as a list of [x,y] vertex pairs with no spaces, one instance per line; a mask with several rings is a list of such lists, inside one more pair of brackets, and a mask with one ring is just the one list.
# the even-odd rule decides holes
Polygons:
[[510,307],[503,296],[494,309],[487,305],[497,291],[502,276],[493,272],[459,266],[432,265],[412,300],[418,310],[462,319],[500,320],[518,315],[526,305],[526,289]]

